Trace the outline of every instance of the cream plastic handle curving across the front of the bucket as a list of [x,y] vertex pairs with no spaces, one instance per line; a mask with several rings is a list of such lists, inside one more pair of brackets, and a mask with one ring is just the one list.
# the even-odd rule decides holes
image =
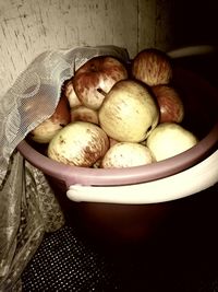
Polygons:
[[73,201],[155,203],[197,194],[218,183],[218,150],[206,160],[166,178],[124,186],[72,185],[66,196]]

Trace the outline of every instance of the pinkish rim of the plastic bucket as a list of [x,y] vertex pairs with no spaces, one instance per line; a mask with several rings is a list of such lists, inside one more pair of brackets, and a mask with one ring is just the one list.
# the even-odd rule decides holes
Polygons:
[[[218,98],[217,89],[206,79],[189,69],[180,69],[186,74],[191,74],[197,78],[197,80],[201,80],[203,85],[207,86],[209,93]],[[39,153],[29,145],[25,139],[22,140],[16,148],[29,163],[41,170],[44,174],[63,180],[66,187],[69,187],[73,184],[90,186],[131,185],[164,178],[194,166],[197,162],[208,156],[217,143],[218,120],[208,135],[191,149],[164,161],[124,168],[88,168],[66,165]]]

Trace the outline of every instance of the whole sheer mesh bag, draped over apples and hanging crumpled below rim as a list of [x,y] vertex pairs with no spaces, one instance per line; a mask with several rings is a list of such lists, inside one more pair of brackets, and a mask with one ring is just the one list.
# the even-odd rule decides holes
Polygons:
[[128,51],[116,46],[45,51],[0,97],[0,291],[19,290],[20,276],[45,232],[64,223],[44,174],[16,147],[53,114],[63,82],[88,59],[104,55],[129,61]]

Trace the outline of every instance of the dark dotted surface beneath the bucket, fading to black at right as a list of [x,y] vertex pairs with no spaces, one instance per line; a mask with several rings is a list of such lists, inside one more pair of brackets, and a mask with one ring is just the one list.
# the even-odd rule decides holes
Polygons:
[[218,185],[174,201],[149,242],[109,246],[74,226],[47,234],[22,277],[24,292],[218,292]]

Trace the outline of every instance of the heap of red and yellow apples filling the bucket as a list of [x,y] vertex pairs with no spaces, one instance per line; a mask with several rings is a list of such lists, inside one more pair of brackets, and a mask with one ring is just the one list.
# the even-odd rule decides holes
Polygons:
[[[146,78],[137,74],[140,69]],[[104,78],[110,86],[101,86]],[[110,167],[130,167],[166,160],[191,149],[198,142],[198,137],[193,129],[189,129],[187,124],[182,124],[189,112],[183,105],[183,93],[175,87],[172,62],[158,49],[144,49],[129,67],[109,56],[90,59],[63,85],[62,95],[69,100],[71,120],[49,141],[47,155],[69,165],[101,168],[106,166],[101,163],[105,162],[105,155],[109,156],[114,144],[110,141],[135,143],[134,149],[138,149],[138,156],[142,145],[143,150],[148,149],[152,159],[146,162],[137,159],[131,165],[128,162],[130,156],[124,156],[123,151],[122,163],[110,164]],[[159,102],[162,92],[165,102]],[[73,96],[71,100],[70,93]],[[167,122],[162,119],[161,110],[166,105],[168,109],[170,107]],[[83,109],[82,113],[86,115],[78,114],[78,109]],[[94,119],[88,116],[90,112]],[[72,129],[78,125],[80,130],[72,135]],[[97,136],[92,136],[93,128]],[[175,129],[174,140],[169,133],[172,128]],[[89,138],[86,139],[87,137]],[[165,151],[168,144],[170,150]],[[113,149],[118,149],[118,145]],[[89,155],[88,162],[78,160],[78,153],[83,153],[83,157]]]

